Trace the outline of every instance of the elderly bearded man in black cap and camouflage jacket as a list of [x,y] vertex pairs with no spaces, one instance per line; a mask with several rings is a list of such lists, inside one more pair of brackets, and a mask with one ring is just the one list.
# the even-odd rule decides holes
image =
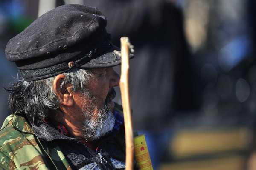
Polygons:
[[8,42],[20,78],[8,89],[0,169],[125,168],[122,109],[112,101],[119,48],[106,23],[96,8],[64,5]]

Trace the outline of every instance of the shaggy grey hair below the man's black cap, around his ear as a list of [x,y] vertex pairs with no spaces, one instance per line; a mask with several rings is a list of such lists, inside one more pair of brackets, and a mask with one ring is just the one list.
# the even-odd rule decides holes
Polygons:
[[[90,70],[74,68],[64,73],[66,76],[61,82],[61,91],[67,85],[73,85],[72,91],[82,91],[93,77]],[[55,77],[36,81],[25,81],[18,78],[13,82],[9,91],[9,108],[13,114],[26,115],[30,123],[38,125],[59,109],[59,99],[54,93],[53,81]],[[53,116],[53,115],[52,115]]]

